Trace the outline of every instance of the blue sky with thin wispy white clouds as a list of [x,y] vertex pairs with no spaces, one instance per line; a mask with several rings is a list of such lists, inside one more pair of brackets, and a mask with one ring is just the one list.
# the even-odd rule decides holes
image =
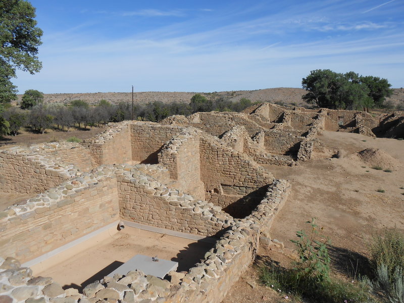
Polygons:
[[404,86],[404,0],[32,0],[42,70],[20,93],[301,87],[311,70]]

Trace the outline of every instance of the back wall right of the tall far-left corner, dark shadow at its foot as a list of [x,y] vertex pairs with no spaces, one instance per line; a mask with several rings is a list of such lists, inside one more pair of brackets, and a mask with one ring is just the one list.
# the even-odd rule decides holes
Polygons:
[[130,129],[132,160],[157,164],[158,154],[163,145],[184,128],[151,122],[133,122]]

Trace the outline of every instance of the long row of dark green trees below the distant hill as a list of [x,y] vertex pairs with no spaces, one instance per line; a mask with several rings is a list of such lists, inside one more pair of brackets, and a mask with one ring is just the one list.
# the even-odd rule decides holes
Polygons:
[[[72,100],[68,105],[43,104],[43,94],[32,89],[26,91],[24,96],[21,109],[11,107],[9,104],[6,106],[0,104],[0,135],[15,136],[22,127],[28,127],[39,133],[49,128],[86,129],[92,126],[99,127],[108,122],[130,120],[132,117],[130,103],[111,104],[107,100],[100,100],[96,106],[89,106],[83,100]],[[159,122],[172,115],[188,116],[195,112],[240,112],[251,104],[251,100],[247,98],[231,102],[224,98],[212,100],[204,95],[195,94],[190,104],[176,102],[167,104],[159,101],[136,104],[133,116],[136,120]]]

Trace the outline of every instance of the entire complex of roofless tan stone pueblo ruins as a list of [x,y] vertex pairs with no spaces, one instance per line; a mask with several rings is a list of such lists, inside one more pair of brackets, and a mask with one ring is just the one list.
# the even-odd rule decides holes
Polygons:
[[[264,103],[243,113],[109,124],[81,143],[5,149],[0,191],[30,198],[0,212],[0,301],[221,302],[260,243],[271,241],[271,224],[293,190],[265,165],[338,157],[318,139],[322,130],[375,136],[403,129],[399,114],[379,122],[364,112]],[[88,284],[75,287],[42,276],[129,229],[204,242],[205,250],[190,266],[183,264],[190,257],[177,255],[179,269],[165,279],[132,270],[91,280],[94,269]]]

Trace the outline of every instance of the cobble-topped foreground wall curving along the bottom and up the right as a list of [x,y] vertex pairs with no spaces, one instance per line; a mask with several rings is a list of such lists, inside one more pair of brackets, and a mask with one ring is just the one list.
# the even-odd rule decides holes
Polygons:
[[30,269],[21,268],[18,261],[7,258],[0,260],[0,275],[5,277],[2,279],[2,299],[11,302],[13,298],[16,301],[30,298],[40,303],[90,303],[104,298],[125,303],[142,300],[219,303],[254,260],[260,236],[269,230],[289,192],[290,184],[274,181],[250,216],[236,220],[206,253],[204,260],[187,274],[172,278],[171,282],[132,271],[87,285],[81,294],[72,288],[63,290],[52,278],[32,277]]

